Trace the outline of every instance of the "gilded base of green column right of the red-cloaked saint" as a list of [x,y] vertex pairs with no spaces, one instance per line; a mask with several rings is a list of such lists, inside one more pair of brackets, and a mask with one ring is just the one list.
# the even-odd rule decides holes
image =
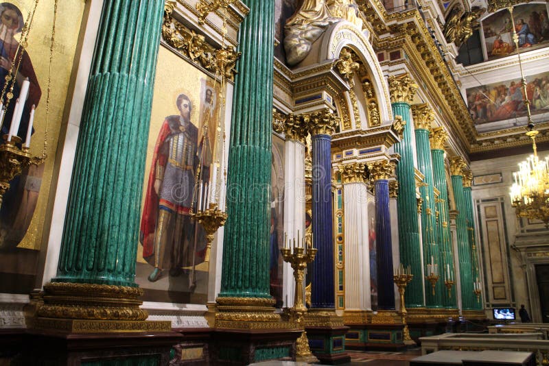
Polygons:
[[218,297],[215,328],[224,329],[296,329],[293,321],[283,321],[274,313],[274,300],[255,297]]

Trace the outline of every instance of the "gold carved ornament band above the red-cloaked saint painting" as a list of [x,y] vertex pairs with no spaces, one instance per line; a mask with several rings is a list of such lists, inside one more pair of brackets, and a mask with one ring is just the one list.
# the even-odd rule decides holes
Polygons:
[[215,49],[208,44],[204,35],[197,34],[194,30],[185,27],[183,23],[176,21],[172,17],[173,10],[172,5],[168,3],[165,5],[162,25],[162,37],[165,42],[194,64],[202,66],[211,73],[234,80],[235,64],[241,53],[234,47]]

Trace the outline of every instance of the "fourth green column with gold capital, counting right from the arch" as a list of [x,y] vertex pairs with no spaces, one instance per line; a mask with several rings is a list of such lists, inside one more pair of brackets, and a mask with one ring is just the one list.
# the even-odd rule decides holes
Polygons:
[[456,236],[458,241],[458,263],[460,273],[460,291],[462,310],[475,310],[476,295],[474,293],[473,268],[471,266],[471,243],[467,230],[467,204],[463,191],[463,168],[465,161],[460,156],[450,160],[452,173],[452,189],[456,201]]

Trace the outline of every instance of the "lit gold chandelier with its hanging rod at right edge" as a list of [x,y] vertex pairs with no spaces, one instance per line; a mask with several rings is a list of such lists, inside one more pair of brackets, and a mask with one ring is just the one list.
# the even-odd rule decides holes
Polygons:
[[526,94],[526,79],[522,71],[520,60],[519,38],[515,30],[515,20],[513,19],[513,8],[509,8],[511,13],[511,22],[513,24],[513,42],[517,48],[519,59],[520,76],[522,77],[522,93],[524,94],[524,105],[528,115],[528,132],[526,136],[532,139],[533,155],[530,155],[525,161],[519,163],[519,171],[513,173],[515,182],[511,186],[511,206],[517,212],[517,217],[526,217],[528,219],[539,219],[549,225],[549,157],[540,160],[537,156],[536,136],[539,131],[534,129],[534,123],[530,115],[530,101]]

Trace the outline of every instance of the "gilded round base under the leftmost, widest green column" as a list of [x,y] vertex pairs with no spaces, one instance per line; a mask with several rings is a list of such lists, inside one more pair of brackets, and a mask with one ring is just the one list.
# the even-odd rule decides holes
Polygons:
[[148,317],[147,311],[139,308],[143,304],[139,287],[50,282],[44,291],[38,317],[130,321]]

